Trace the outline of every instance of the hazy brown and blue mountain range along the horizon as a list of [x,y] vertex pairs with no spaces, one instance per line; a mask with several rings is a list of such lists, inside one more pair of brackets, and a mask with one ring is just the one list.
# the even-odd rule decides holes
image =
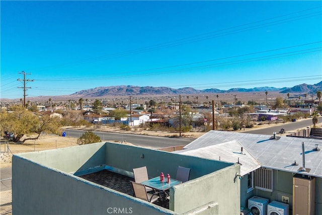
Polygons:
[[111,86],[111,87],[97,87],[94,89],[82,90],[71,94],[75,97],[102,97],[102,96],[137,96],[137,95],[178,95],[178,94],[199,94],[199,93],[233,93],[233,92],[265,92],[265,91],[279,91],[279,93],[308,93],[315,94],[317,90],[322,89],[322,81],[314,84],[296,85],[292,88],[274,88],[274,87],[256,87],[251,89],[232,88],[229,90],[219,89],[205,89],[196,90],[194,88],[186,87],[180,89],[173,89],[169,87],[139,87],[139,86]]

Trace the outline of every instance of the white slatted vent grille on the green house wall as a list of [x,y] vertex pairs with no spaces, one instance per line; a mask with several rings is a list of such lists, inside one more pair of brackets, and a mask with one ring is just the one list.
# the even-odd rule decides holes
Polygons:
[[255,188],[273,192],[273,170],[265,168],[256,170]]

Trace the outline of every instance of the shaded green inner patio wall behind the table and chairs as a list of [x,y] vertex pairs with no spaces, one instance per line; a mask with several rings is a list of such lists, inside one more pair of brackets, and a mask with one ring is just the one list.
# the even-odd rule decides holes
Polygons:
[[[141,158],[142,155],[144,158]],[[107,142],[106,165],[130,172],[133,168],[146,166],[148,176],[151,178],[159,176],[161,172],[169,173],[175,178],[178,166],[183,166],[191,169],[190,180],[192,180],[232,164]]]

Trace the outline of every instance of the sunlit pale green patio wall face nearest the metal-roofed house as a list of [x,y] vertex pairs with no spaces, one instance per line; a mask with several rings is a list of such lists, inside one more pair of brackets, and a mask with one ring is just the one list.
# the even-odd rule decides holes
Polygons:
[[174,186],[170,209],[184,213],[209,201],[218,203],[218,214],[240,213],[240,167],[234,164],[214,173]]

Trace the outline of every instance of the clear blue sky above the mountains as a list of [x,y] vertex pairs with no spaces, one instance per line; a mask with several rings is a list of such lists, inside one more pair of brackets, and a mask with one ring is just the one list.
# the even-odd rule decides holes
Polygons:
[[320,1],[1,1],[1,95],[322,80]]

